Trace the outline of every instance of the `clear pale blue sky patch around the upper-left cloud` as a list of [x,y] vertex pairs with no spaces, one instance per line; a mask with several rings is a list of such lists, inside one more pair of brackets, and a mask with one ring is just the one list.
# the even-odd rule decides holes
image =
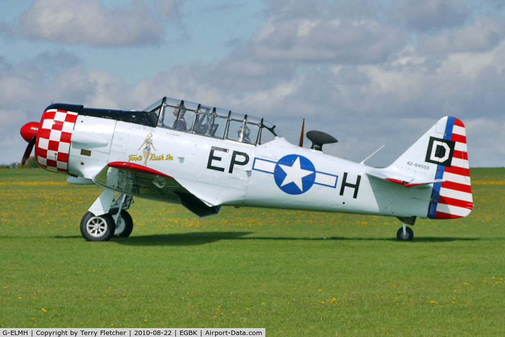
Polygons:
[[[30,0],[6,3],[2,4],[0,22],[12,24],[27,12],[34,2]],[[54,3],[55,7],[59,5],[58,1],[44,3]],[[99,2],[104,11],[133,7],[133,3],[118,0]],[[146,7],[151,6],[155,11],[158,2],[138,3],[143,3]],[[261,12],[265,5],[262,2],[189,0],[166,3],[173,4],[173,14],[159,12],[158,15],[154,13],[150,17],[164,25],[164,29],[159,32],[162,43],[138,41],[140,45],[125,43],[96,47],[93,46],[92,40],[86,38],[82,38],[80,42],[65,43],[57,38],[43,40],[9,37],[0,40],[0,55],[15,61],[32,58],[50,50],[63,49],[81,59],[87,71],[104,69],[121,76],[133,86],[139,80],[151,78],[177,64],[195,61],[208,63],[224,58],[234,44],[249,39],[264,21]],[[118,25],[128,25],[127,20],[118,21]]]

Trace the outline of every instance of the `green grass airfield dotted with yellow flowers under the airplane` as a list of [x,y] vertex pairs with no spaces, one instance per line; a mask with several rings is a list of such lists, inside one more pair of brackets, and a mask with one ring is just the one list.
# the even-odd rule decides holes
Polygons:
[[268,335],[502,335],[505,169],[472,169],[475,208],[418,219],[135,199],[129,238],[86,242],[102,191],[0,170],[2,327],[265,327]]

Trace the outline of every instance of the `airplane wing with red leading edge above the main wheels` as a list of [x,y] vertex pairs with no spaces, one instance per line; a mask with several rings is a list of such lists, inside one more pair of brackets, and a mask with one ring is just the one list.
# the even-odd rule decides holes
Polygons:
[[199,217],[218,214],[221,209],[221,206],[206,205],[173,177],[134,163],[109,163],[93,177],[93,181],[130,196],[182,204]]

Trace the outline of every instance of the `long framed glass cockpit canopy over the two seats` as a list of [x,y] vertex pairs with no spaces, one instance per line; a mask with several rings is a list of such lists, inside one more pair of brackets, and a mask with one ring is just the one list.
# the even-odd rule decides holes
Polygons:
[[143,110],[158,127],[208,137],[264,144],[282,137],[275,125],[263,118],[164,97]]

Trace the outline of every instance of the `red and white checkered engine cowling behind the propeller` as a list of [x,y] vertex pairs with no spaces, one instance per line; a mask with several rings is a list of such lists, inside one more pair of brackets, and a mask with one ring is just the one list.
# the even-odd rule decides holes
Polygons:
[[35,143],[35,160],[48,171],[68,173],[70,139],[77,112],[48,109],[42,114]]

